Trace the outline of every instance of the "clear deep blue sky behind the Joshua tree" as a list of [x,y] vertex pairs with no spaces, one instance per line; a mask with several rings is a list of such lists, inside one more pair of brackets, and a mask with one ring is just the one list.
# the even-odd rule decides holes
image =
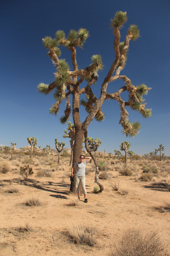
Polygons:
[[[50,84],[54,81],[55,72],[42,38],[54,38],[59,29],[66,34],[70,29],[81,27],[89,31],[90,37],[83,50],[77,50],[77,62],[79,68],[85,68],[93,54],[101,54],[105,67],[99,72],[97,84],[92,86],[98,97],[115,57],[110,19],[116,11],[126,11],[128,21],[120,31],[121,41],[130,24],[138,25],[141,37],[130,42],[127,64],[120,74],[125,74],[135,86],[144,83],[152,87],[145,97],[147,107],[152,108],[152,117],[144,119],[127,107],[129,120],[139,121],[142,128],[135,138],[126,138],[119,125],[118,103],[106,101],[102,106],[106,119],[102,123],[93,120],[88,136],[101,139],[99,151],[107,153],[120,150],[121,142],[129,141],[130,149],[136,154],[149,153],[162,143],[165,154],[170,155],[169,9],[168,0],[3,1],[0,15],[0,145],[10,146],[13,142],[19,149],[28,145],[27,137],[34,136],[41,148],[47,144],[55,148],[55,138],[69,147],[69,139],[63,138],[67,124],[59,122],[65,102],[55,117],[49,114],[49,108],[55,103],[52,94],[44,96],[37,91],[40,82]],[[61,48],[61,58],[72,67],[69,50]],[[114,82],[108,86],[108,92],[114,93],[122,86],[122,81]],[[127,98],[126,93],[123,98]],[[80,112],[84,121],[86,112],[82,108]]]

